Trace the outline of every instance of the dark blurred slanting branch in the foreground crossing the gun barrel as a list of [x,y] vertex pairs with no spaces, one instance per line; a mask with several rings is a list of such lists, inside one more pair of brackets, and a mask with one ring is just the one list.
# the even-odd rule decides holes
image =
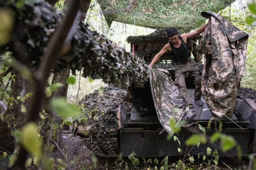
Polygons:
[[[53,33],[49,43],[47,44],[47,51],[43,56],[43,60],[40,63],[39,67],[36,69],[34,74],[34,90],[33,96],[31,99],[31,106],[28,111],[28,119],[27,122],[33,121],[37,122],[39,118],[39,112],[41,110],[41,106],[43,100],[45,98],[45,87],[47,79],[50,75],[50,71],[54,67],[54,63],[61,55],[61,49],[63,46],[63,42],[67,35],[70,32],[70,29],[74,23],[74,19],[76,18],[80,0],[73,0],[69,5],[69,10],[64,16],[62,22],[57,26],[55,32]],[[47,68],[47,69],[46,69]],[[25,161],[27,159],[27,150],[20,145],[20,150],[18,153],[18,158],[15,163],[15,170],[24,169]]]

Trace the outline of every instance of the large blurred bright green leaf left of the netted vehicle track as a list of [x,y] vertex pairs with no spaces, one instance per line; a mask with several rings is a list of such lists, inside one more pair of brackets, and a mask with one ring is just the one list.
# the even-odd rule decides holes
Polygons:
[[80,110],[76,106],[68,104],[64,98],[54,98],[50,101],[50,105],[57,115],[64,120],[69,116],[77,117],[80,115]]

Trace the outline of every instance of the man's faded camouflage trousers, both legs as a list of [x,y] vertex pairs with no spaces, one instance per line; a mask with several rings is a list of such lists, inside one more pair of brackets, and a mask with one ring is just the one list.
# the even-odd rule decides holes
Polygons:
[[[202,76],[199,75],[198,71],[187,71],[189,75],[195,78],[194,84],[196,85],[196,90],[195,90],[195,100],[199,100],[201,98],[201,79]],[[176,72],[175,74],[175,85],[178,86],[180,95],[182,99],[184,100],[185,107],[186,106],[193,106],[193,103],[190,99],[189,92],[186,87],[185,83],[185,78],[186,78],[186,72]]]

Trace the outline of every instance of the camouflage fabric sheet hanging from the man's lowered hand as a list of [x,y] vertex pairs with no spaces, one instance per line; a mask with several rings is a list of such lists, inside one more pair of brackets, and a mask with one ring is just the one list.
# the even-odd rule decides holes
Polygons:
[[[167,70],[155,70],[148,67],[148,74],[159,122],[170,135],[173,135],[170,129],[170,119],[174,117],[177,123],[181,121],[185,114],[183,99]],[[181,108],[181,110],[177,112],[175,108]]]

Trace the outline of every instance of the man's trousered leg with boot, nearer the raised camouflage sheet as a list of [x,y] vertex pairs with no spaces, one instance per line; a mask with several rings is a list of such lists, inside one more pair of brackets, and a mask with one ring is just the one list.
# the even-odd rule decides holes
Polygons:
[[196,103],[197,103],[198,106],[203,106],[203,102],[201,101],[201,95],[202,95],[201,80],[202,80],[202,76],[199,75],[198,71],[191,71],[191,72],[189,72],[189,74],[195,78],[194,84],[196,86],[196,90],[195,90]]

